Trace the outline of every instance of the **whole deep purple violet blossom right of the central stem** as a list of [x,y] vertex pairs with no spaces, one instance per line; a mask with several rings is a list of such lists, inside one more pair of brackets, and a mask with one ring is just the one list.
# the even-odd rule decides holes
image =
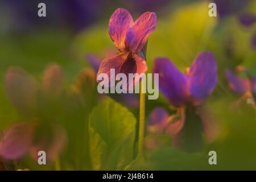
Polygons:
[[169,103],[177,108],[177,113],[169,115],[162,107],[156,108],[150,115],[148,133],[171,135],[175,144],[178,134],[184,127],[187,110],[193,110],[201,118],[209,140],[212,140],[214,136],[209,118],[205,117],[207,109],[202,105],[213,92],[218,80],[217,64],[213,54],[202,52],[197,55],[185,74],[181,73],[168,58],[159,57],[155,59],[153,72],[159,73],[159,89]]

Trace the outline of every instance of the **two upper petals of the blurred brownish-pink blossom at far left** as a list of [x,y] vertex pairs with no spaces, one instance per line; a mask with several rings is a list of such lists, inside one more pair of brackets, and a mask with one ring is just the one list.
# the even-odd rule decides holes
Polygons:
[[5,76],[5,90],[10,102],[24,115],[38,114],[39,93],[44,100],[57,99],[63,92],[63,74],[59,65],[51,64],[44,71],[42,86],[19,67],[10,67]]

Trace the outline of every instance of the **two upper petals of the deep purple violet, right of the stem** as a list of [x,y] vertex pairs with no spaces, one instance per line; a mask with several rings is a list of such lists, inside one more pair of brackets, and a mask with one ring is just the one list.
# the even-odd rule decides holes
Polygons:
[[210,52],[200,53],[184,75],[168,58],[156,58],[154,73],[159,73],[159,89],[176,106],[199,106],[217,84],[217,64]]

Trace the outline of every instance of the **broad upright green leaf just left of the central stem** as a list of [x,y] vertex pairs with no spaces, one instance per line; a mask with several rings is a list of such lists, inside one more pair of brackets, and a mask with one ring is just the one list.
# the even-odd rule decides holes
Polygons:
[[136,119],[126,107],[107,99],[89,117],[93,169],[124,169],[134,154]]

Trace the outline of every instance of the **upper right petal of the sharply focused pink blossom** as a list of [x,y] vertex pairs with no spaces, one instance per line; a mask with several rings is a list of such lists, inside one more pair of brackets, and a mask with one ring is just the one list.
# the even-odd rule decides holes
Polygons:
[[156,14],[152,12],[143,13],[133,26],[127,30],[125,46],[129,51],[138,53],[147,42],[148,35],[155,31]]

